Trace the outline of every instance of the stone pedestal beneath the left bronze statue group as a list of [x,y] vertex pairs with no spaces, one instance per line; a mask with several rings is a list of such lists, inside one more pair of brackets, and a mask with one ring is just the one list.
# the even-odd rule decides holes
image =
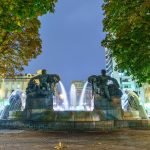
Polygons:
[[32,92],[27,95],[24,119],[41,120],[45,112],[53,109],[53,95],[50,91]]

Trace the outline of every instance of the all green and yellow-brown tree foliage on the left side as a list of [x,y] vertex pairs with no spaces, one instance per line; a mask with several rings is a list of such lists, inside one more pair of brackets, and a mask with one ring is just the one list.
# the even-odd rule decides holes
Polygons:
[[54,12],[56,1],[0,1],[0,76],[22,71],[41,53],[38,17]]

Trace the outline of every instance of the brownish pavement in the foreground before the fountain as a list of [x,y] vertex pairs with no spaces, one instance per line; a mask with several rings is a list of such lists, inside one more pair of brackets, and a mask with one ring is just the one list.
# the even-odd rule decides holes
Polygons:
[[0,130],[0,150],[150,150],[150,130],[114,132],[41,132]]

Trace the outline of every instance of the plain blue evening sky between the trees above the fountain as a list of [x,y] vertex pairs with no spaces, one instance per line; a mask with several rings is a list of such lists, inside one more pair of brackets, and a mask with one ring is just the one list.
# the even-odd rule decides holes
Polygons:
[[25,68],[59,74],[67,89],[71,80],[86,80],[105,68],[102,0],[59,0],[54,14],[40,17],[43,52]]

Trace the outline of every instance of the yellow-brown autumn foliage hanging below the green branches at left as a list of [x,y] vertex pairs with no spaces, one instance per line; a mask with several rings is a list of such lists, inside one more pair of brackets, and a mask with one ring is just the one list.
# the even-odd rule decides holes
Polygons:
[[26,20],[22,32],[6,32],[0,29],[3,42],[0,44],[0,74],[13,76],[22,71],[32,58],[41,53],[39,37],[40,22],[37,19]]

